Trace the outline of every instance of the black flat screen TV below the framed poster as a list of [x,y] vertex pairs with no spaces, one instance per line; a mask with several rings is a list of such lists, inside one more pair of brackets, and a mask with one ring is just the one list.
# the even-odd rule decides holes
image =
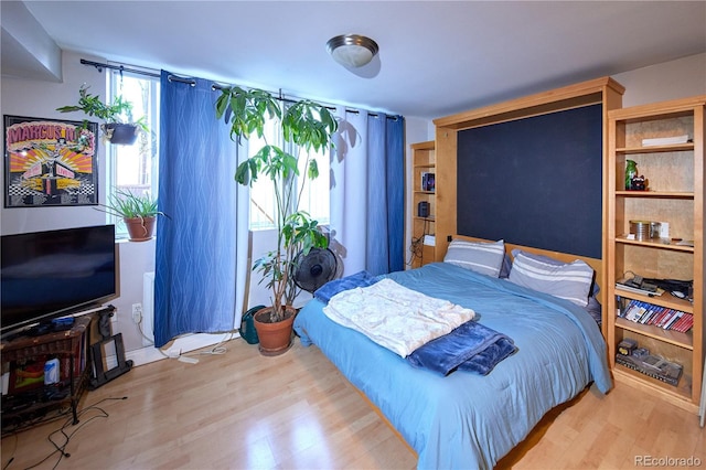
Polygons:
[[2,334],[117,295],[115,225],[3,235],[1,243]]

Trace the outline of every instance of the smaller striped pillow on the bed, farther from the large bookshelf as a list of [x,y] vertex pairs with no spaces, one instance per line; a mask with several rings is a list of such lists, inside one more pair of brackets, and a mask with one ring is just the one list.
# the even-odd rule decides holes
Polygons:
[[500,276],[505,256],[505,242],[451,241],[443,257],[445,263],[460,266],[491,277]]

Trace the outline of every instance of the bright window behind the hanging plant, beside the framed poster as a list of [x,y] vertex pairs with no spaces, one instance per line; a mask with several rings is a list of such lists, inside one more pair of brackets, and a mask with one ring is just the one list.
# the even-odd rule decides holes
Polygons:
[[[108,153],[109,197],[116,190],[136,194],[150,193],[157,196],[159,156],[159,86],[158,77],[132,75],[113,71],[108,74],[108,102],[122,97],[132,103],[132,116],[145,116],[150,132],[141,132],[132,146],[106,146]],[[108,215],[108,222],[116,224],[119,237],[127,236],[125,224],[118,217]]]

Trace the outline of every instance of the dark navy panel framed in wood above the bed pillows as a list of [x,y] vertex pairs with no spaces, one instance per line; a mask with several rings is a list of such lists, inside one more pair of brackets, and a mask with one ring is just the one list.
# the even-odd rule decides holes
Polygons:
[[458,133],[458,233],[601,258],[600,104]]

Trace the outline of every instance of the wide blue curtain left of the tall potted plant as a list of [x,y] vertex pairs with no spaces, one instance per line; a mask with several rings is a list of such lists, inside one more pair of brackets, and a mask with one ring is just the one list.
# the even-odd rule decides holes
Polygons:
[[154,343],[232,331],[236,314],[237,147],[212,82],[161,74]]

